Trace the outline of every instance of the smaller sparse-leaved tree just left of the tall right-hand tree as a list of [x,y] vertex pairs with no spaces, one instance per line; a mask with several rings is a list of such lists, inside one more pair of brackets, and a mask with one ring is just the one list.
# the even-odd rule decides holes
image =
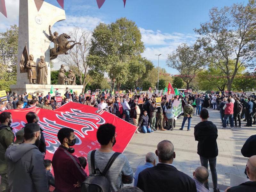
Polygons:
[[174,52],[168,54],[166,65],[179,71],[180,77],[186,83],[186,89],[189,89],[196,74],[204,69],[207,63],[199,46],[181,44]]

